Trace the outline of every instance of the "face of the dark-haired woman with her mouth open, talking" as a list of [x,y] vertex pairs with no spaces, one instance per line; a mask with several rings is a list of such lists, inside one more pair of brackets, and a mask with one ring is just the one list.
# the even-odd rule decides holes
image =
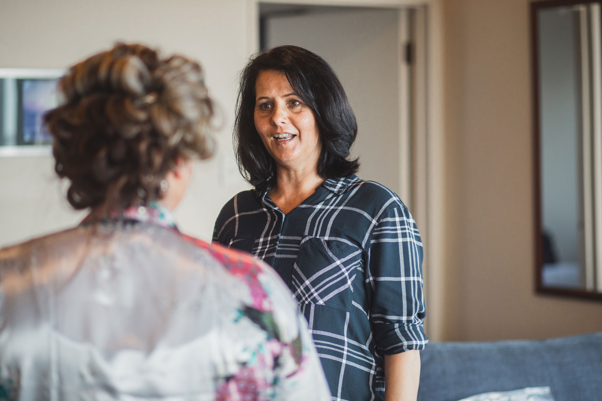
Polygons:
[[283,72],[265,70],[255,81],[255,128],[276,164],[317,169],[321,142],[314,112]]

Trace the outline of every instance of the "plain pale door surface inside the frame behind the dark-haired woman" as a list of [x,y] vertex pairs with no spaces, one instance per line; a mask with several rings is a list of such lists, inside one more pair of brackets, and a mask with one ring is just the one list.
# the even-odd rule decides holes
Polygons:
[[399,193],[399,11],[327,10],[269,17],[267,47],[302,46],[328,61],[358,120],[358,176]]

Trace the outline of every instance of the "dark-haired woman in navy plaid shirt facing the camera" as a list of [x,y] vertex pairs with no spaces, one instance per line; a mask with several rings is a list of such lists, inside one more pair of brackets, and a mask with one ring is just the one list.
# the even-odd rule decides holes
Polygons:
[[235,147],[254,189],[223,207],[214,242],[288,284],[333,399],[415,400],[428,341],[420,234],[393,191],[355,175],[357,123],[337,75],[318,55],[279,46],[241,78]]

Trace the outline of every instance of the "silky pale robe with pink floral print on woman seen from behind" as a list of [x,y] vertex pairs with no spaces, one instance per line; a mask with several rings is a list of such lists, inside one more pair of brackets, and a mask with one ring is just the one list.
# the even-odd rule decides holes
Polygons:
[[330,393],[278,274],[152,204],[0,250],[0,399]]

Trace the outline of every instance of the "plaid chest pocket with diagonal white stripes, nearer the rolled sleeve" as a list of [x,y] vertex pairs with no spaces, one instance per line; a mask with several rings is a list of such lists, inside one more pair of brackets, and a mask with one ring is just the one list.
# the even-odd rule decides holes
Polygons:
[[349,311],[362,250],[337,240],[305,237],[293,265],[291,290],[297,302]]

